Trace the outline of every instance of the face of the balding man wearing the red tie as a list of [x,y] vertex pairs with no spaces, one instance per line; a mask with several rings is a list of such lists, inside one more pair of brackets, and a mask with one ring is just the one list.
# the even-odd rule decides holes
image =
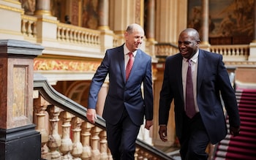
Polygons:
[[134,28],[131,33],[126,32],[124,34],[127,48],[129,51],[134,52],[140,48],[143,42],[144,31],[142,28]]

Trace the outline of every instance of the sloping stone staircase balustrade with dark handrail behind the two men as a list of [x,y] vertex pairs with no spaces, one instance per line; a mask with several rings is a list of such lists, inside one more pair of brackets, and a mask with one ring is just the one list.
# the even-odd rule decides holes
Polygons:
[[[45,77],[34,75],[34,123],[40,132],[42,159],[112,159],[105,121],[86,119],[86,107],[56,92]],[[135,159],[172,159],[137,140]]]

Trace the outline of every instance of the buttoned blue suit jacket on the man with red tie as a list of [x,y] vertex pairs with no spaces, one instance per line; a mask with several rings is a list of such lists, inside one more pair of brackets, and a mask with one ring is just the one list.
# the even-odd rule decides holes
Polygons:
[[[124,111],[136,125],[153,119],[153,93],[151,79],[151,56],[138,50],[129,79],[125,80],[124,45],[106,50],[102,64],[97,69],[89,92],[89,108],[95,108],[97,94],[109,74],[109,89],[105,100],[103,118],[108,123],[116,124]],[[143,94],[141,84],[143,83]]]

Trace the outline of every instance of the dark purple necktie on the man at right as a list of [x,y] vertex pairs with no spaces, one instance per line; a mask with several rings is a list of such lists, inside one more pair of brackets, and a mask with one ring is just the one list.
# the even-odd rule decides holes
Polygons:
[[186,114],[189,118],[192,118],[195,115],[195,102],[192,83],[191,60],[189,59],[187,62],[189,63],[189,67],[187,69]]

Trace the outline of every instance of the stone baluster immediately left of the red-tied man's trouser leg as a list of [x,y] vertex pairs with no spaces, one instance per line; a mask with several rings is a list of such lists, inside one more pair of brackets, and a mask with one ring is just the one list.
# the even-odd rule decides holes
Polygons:
[[108,160],[108,141],[105,130],[99,132],[99,152],[101,160]]

